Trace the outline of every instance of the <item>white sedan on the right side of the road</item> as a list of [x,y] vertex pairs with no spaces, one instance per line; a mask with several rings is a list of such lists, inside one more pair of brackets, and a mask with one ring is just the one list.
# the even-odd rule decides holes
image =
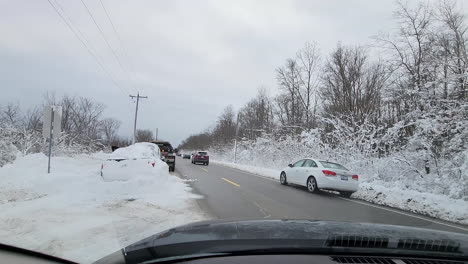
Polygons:
[[289,164],[281,171],[280,182],[306,186],[309,192],[319,189],[339,191],[345,197],[350,197],[359,188],[357,174],[341,164],[321,159],[302,159]]

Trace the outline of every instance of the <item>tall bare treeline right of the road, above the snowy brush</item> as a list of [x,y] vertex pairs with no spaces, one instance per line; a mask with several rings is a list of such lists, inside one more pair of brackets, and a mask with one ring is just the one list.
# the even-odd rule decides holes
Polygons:
[[412,149],[426,163],[466,150],[466,14],[456,1],[400,2],[394,19],[397,30],[374,36],[372,48],[338,43],[321,54],[307,43],[276,69],[277,95],[261,88],[239,111],[226,107],[179,149],[313,132],[333,148],[379,157]]

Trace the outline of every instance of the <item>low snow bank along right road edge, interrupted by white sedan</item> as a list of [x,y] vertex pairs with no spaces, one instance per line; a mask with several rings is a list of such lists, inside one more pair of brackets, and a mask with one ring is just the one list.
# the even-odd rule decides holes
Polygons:
[[[281,170],[211,160],[213,164],[250,172],[259,176],[279,180]],[[468,201],[451,199],[446,195],[423,193],[408,189],[402,183],[362,180],[359,191],[352,197],[371,203],[390,206],[414,213],[428,215],[455,223],[468,224]]]

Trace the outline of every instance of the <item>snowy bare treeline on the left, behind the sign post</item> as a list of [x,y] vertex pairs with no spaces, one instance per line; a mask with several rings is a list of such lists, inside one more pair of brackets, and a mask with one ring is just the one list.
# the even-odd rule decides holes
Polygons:
[[131,143],[118,136],[119,120],[103,116],[103,104],[86,97],[48,94],[41,105],[28,110],[16,103],[0,105],[0,166],[14,160],[18,152],[25,155],[45,150],[42,118],[46,105],[62,107],[62,133],[54,142],[55,153],[92,152]]

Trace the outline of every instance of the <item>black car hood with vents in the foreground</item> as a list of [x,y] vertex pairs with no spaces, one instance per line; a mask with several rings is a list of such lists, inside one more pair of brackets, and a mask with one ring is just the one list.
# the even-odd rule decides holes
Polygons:
[[468,235],[414,227],[331,221],[205,221],[161,232],[121,251],[125,263],[242,252],[370,253],[466,259]]

